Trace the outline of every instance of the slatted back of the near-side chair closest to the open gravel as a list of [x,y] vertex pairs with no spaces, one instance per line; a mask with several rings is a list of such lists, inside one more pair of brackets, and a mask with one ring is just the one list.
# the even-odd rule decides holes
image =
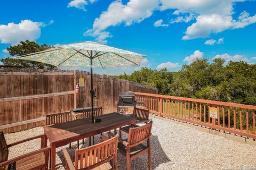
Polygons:
[[151,134],[153,122],[149,122],[146,125],[139,126],[138,128],[130,128],[127,142],[130,147],[139,145],[149,139]]

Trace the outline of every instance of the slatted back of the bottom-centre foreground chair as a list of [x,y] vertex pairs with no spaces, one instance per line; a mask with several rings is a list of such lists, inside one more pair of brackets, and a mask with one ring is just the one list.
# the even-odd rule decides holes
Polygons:
[[92,169],[115,159],[117,144],[116,136],[91,147],[76,149],[75,169]]

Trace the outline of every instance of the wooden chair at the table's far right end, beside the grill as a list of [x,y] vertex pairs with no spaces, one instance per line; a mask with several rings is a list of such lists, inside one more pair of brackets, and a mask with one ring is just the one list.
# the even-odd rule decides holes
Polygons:
[[[149,122],[149,110],[141,109],[134,107],[133,109],[133,115],[134,118],[136,118],[136,124],[138,123],[148,123]],[[129,133],[130,128],[136,128],[138,125],[128,125],[124,126],[122,128],[119,128],[119,137],[122,138],[122,131],[125,133]]]

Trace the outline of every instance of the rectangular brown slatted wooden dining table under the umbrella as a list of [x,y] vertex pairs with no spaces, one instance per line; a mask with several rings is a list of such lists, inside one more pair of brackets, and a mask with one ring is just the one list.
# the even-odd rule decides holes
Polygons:
[[119,113],[109,113],[95,118],[101,122],[92,123],[91,118],[44,126],[44,133],[51,145],[51,169],[55,169],[56,148],[103,132],[134,124],[135,118]]

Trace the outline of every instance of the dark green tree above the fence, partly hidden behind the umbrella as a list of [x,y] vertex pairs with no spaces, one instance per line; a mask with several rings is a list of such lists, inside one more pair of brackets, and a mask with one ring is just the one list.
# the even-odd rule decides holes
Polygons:
[[[52,46],[47,44],[38,45],[35,41],[20,41],[20,44],[7,47],[7,50],[11,56],[21,56],[30,53],[41,52],[42,50],[51,48]],[[55,69],[56,67],[50,64],[39,63],[28,60],[17,60],[10,57],[1,59],[4,65],[18,66],[24,68],[36,68],[36,69]]]

